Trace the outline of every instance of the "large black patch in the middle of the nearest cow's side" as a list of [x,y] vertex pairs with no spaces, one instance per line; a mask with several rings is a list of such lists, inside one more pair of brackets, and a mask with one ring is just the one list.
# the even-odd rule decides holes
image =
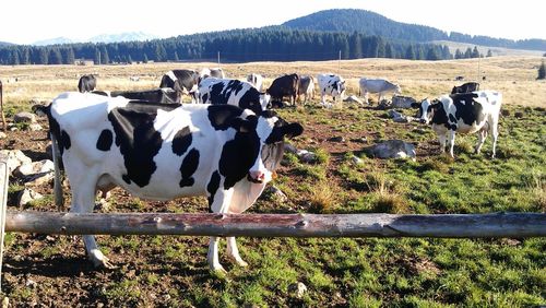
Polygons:
[[139,187],[144,187],[157,169],[153,158],[163,144],[161,133],[154,129],[157,106],[165,105],[132,103],[108,114],[116,134],[116,145],[123,155],[127,174],[122,178],[127,183],[134,181]]

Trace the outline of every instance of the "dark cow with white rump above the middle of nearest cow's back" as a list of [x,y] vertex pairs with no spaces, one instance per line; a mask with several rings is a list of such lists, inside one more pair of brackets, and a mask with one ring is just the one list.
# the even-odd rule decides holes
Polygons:
[[182,94],[191,96],[191,103],[198,103],[199,73],[191,70],[171,70],[162,76],[159,87],[170,87],[177,92],[177,100],[181,102]]

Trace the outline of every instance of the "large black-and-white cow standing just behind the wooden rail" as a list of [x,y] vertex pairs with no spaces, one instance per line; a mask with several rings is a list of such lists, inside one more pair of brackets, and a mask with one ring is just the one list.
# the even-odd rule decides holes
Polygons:
[[[273,111],[258,116],[232,105],[141,104],[88,93],[63,93],[39,108],[70,181],[71,213],[91,213],[95,191],[117,186],[151,200],[205,196],[213,213],[241,213],[271,181],[284,138],[304,130]],[[95,266],[111,266],[94,236],[83,241]],[[235,237],[227,238],[227,253],[247,265]],[[216,237],[207,263],[224,271]]]

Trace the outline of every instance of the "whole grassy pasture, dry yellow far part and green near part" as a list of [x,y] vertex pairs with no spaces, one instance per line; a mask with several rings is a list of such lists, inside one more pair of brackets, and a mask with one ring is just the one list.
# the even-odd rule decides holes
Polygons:
[[[317,153],[312,163],[286,154],[272,182],[286,196],[264,194],[254,213],[490,213],[546,212],[546,83],[535,81],[538,57],[482,59],[483,88],[503,93],[497,158],[491,144],[473,154],[476,135],[458,135],[455,158],[439,154],[435,133],[417,123],[395,123],[387,111],[347,105],[311,104],[278,110],[305,132],[292,143]],[[212,63],[130,67],[0,67],[4,104],[13,114],[29,99],[51,99],[75,90],[82,73],[99,74],[98,87],[145,88],[173,68]],[[476,75],[476,60],[358,61],[223,64],[233,76],[248,72],[339,72],[349,94],[360,76],[387,76],[416,98],[447,93],[455,75]],[[129,76],[141,76],[130,82]],[[318,103],[319,97],[313,99]],[[414,115],[415,110],[404,110]],[[2,149],[38,153],[45,132],[8,133]],[[342,137],[343,140],[339,141]],[[332,139],[337,138],[337,139]],[[26,142],[22,140],[26,139]],[[364,147],[401,139],[416,145],[416,161],[368,157]],[[353,156],[363,159],[355,164]],[[13,194],[21,183],[10,185]],[[51,189],[25,210],[55,211]],[[13,200],[10,199],[10,202]],[[103,212],[205,212],[202,198],[146,202],[116,189]],[[10,209],[15,209],[10,203]],[[9,234],[2,291],[14,306],[99,307],[538,307],[546,305],[546,239],[432,238],[240,238],[249,268],[230,265],[226,275],[206,266],[207,238],[99,236],[119,268],[95,271],[79,237]],[[32,283],[34,282],[34,283]],[[298,296],[297,283],[307,291]]]

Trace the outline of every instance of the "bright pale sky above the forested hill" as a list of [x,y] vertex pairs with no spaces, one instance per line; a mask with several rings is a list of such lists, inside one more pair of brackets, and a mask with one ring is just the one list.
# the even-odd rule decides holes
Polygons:
[[282,24],[328,9],[364,9],[446,32],[546,39],[542,0],[26,0],[2,1],[0,42],[144,32],[158,37]]

